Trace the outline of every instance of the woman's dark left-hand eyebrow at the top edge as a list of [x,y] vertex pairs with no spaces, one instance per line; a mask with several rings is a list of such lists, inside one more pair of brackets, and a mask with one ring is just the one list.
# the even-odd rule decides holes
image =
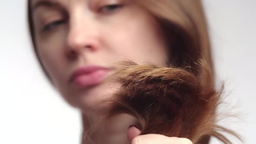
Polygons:
[[63,8],[62,4],[56,1],[50,1],[50,0],[39,0],[32,6],[32,11],[35,11],[39,7],[58,7]]

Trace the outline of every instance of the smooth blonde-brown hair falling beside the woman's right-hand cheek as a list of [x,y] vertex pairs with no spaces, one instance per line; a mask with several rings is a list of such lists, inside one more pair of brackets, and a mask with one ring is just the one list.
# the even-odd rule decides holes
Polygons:
[[[196,68],[204,59],[213,73],[207,21],[200,0],[134,0],[161,23],[170,43],[170,62],[174,66]],[[200,75],[200,69],[194,69]],[[208,75],[209,76],[209,75]],[[213,75],[210,75],[213,79]]]

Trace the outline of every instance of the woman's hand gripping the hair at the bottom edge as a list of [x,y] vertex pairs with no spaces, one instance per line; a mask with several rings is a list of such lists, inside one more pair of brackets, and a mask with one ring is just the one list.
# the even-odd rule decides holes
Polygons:
[[166,137],[161,134],[140,135],[141,131],[131,126],[127,132],[127,138],[131,144],[193,144],[187,138]]

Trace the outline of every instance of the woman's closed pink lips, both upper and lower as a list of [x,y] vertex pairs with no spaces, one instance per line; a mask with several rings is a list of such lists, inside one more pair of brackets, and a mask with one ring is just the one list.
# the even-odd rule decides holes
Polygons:
[[108,72],[108,68],[97,65],[88,65],[76,69],[72,73],[69,82],[75,83],[79,87],[89,87],[102,82]]

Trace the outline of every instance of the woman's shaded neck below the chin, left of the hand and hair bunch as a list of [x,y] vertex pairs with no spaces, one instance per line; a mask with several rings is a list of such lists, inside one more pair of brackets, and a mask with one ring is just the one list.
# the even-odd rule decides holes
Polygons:
[[136,118],[121,114],[106,119],[104,114],[86,112],[82,114],[82,144],[129,144],[126,133]]

